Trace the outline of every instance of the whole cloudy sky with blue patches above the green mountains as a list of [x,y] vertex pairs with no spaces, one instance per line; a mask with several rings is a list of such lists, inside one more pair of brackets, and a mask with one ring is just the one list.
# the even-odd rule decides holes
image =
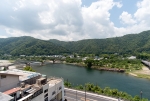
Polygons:
[[103,39],[150,30],[150,0],[0,0],[0,38]]

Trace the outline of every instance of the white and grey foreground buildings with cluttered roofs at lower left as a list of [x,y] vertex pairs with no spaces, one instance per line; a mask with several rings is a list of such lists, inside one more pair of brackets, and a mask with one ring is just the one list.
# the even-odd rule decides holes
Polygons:
[[2,101],[64,101],[62,78],[18,69],[0,71]]

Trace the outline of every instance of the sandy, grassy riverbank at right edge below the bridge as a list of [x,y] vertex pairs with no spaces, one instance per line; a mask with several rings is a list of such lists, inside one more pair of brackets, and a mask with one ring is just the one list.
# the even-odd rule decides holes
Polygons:
[[150,70],[146,66],[143,66],[142,70],[130,71],[130,72],[127,72],[127,74],[138,77],[138,78],[150,79]]

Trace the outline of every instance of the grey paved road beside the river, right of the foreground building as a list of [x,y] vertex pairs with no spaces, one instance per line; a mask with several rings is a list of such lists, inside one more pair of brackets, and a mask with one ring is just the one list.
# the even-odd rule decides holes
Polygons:
[[[86,97],[86,99],[85,99]],[[65,88],[65,98],[67,101],[118,101],[117,99],[88,93],[84,91],[72,90]]]

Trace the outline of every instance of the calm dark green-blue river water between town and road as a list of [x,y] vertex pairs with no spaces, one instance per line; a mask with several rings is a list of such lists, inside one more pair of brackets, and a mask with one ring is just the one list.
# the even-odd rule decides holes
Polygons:
[[136,78],[124,73],[98,71],[84,67],[66,64],[47,64],[33,67],[36,72],[49,76],[62,77],[74,86],[88,82],[99,85],[101,88],[110,87],[125,91],[132,96],[140,95],[150,99],[150,80]]

